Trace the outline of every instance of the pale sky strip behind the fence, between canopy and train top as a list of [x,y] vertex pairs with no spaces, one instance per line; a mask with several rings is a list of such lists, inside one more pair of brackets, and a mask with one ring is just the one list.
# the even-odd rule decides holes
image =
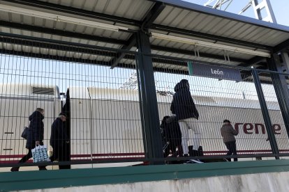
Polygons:
[[[62,93],[65,93],[67,88],[74,86],[119,89],[134,72],[136,70],[119,67],[111,70],[108,66],[82,65],[81,63],[0,54],[1,83],[58,86]],[[258,99],[255,85],[252,82],[236,82],[225,79],[219,81],[219,79],[214,78],[184,76],[182,74],[170,74],[168,76],[167,73],[163,72],[155,72],[154,78],[156,90],[160,91],[175,93],[176,83],[180,79],[188,79],[193,95]],[[276,101],[272,86],[263,84],[262,87],[266,100]],[[2,94],[14,95],[17,90],[11,90],[11,93],[4,92],[2,90]]]

